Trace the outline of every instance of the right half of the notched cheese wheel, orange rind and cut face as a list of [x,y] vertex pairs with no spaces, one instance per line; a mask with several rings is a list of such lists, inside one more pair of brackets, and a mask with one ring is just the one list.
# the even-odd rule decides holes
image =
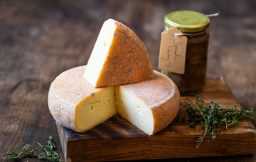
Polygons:
[[116,86],[115,92],[117,113],[146,134],[164,129],[178,113],[178,88],[157,71],[154,71],[154,79]]

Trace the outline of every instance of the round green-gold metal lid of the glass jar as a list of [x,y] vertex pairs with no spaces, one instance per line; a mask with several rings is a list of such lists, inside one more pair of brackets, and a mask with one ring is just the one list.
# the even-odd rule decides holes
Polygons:
[[164,24],[168,28],[177,27],[185,33],[196,33],[206,30],[210,19],[196,11],[174,11],[164,16]]

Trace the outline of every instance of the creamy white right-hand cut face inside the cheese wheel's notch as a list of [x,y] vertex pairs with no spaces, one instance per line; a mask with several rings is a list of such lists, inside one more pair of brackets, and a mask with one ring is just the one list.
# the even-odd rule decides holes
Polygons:
[[154,118],[151,108],[121,86],[115,86],[115,94],[117,113],[144,133],[151,135],[154,129]]

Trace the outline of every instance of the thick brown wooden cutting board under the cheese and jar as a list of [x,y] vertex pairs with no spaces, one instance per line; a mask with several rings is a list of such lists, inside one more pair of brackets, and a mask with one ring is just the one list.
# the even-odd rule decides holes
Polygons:
[[[181,97],[181,108],[177,117],[188,118],[186,110],[195,96]],[[238,101],[221,77],[207,79],[201,93],[205,103],[213,100],[220,108],[233,107]],[[176,117],[176,118],[177,118]],[[198,135],[203,130],[200,123],[190,128],[188,121],[176,123],[148,136],[119,115],[111,117],[85,133],[73,132],[56,122],[66,161],[128,161],[164,158],[193,158],[206,156],[238,156],[255,153],[256,130],[247,117],[237,126],[230,127],[216,139],[205,139],[196,149]],[[210,136],[209,136],[210,137]]]

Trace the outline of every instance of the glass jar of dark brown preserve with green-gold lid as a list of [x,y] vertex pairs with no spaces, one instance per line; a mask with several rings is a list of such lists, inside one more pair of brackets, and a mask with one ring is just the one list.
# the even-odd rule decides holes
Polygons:
[[186,36],[188,42],[185,73],[176,74],[164,70],[161,72],[176,83],[181,96],[201,93],[206,85],[209,18],[195,11],[175,11],[165,16],[164,23],[166,28],[177,27],[181,30],[182,36]]

